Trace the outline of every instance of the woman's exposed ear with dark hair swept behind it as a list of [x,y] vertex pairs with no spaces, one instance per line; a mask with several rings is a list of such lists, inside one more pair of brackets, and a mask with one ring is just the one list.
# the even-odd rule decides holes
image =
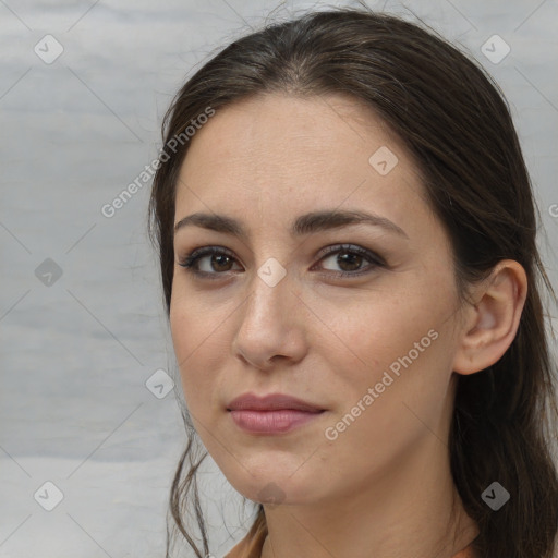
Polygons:
[[473,289],[475,304],[464,311],[453,372],[474,374],[500,360],[518,331],[527,293],[523,266],[504,259]]

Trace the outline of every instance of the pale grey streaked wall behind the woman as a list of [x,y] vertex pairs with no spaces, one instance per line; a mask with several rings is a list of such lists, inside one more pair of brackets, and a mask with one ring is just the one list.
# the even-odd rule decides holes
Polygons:
[[[350,2],[330,2],[341,4]],[[368,4],[414,12],[501,85],[556,286],[557,1]],[[281,19],[327,5],[0,0],[0,557],[163,556],[184,433],[174,392],[158,399],[145,385],[173,363],[145,229],[150,183],[112,218],[100,208],[157,156],[171,97],[211,53],[274,9]],[[34,52],[47,34],[64,49],[51,64]],[[494,34],[511,48],[498,64],[481,51]],[[50,286],[35,275],[46,258],[63,272]],[[234,511],[240,497],[208,472],[211,553],[220,557],[246,523]],[[34,498],[47,481],[64,495],[52,511]]]

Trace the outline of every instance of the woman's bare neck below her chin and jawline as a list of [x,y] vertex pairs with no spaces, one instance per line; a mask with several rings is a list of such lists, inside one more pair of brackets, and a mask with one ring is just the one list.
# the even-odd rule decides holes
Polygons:
[[451,558],[478,529],[454,488],[446,446],[428,434],[352,494],[265,506],[262,558]]

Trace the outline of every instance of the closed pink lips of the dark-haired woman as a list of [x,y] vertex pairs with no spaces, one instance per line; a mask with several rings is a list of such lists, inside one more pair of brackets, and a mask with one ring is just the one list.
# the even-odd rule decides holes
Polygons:
[[316,418],[325,411],[283,393],[265,397],[244,393],[233,399],[227,410],[239,427],[254,434],[287,433]]

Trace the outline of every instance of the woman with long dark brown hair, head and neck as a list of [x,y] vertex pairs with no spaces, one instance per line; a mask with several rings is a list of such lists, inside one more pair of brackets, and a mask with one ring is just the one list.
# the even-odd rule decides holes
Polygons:
[[150,232],[190,433],[171,511],[196,556],[198,435],[258,504],[230,558],[550,558],[551,286],[480,66],[393,16],[311,13],[201,68],[163,140]]

